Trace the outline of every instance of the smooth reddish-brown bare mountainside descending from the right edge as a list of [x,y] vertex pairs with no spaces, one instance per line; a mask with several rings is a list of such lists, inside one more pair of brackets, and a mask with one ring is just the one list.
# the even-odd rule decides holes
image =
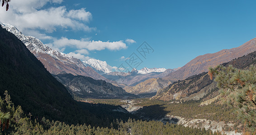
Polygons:
[[176,78],[183,80],[189,76],[196,75],[202,72],[207,72],[208,67],[215,67],[222,63],[227,63],[234,58],[242,57],[251,52],[256,51],[256,38],[247,41],[243,45],[232,48],[223,49],[213,54],[204,54],[191,60],[185,66],[175,72],[171,72],[165,78]]

